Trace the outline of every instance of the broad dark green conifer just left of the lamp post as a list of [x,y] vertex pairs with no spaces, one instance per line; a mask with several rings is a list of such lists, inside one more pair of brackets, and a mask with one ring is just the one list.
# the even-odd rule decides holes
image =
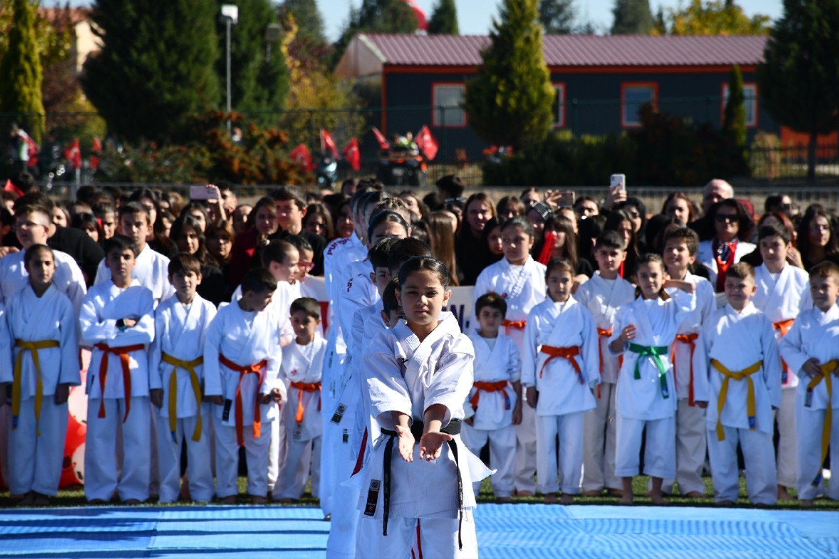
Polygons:
[[178,138],[218,106],[217,17],[204,0],[96,0],[102,50],[87,59],[82,86],[110,132]]

